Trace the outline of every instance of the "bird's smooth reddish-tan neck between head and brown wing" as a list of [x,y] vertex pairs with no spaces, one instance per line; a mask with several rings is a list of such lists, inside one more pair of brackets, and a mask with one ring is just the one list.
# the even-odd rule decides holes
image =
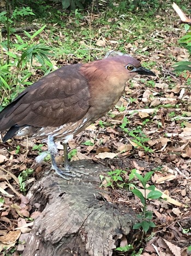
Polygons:
[[89,105],[96,106],[96,111],[92,110],[94,111],[94,115],[92,116],[96,120],[112,109],[121,98],[128,77],[122,71],[119,72],[116,66],[112,66],[110,70],[106,70],[105,66],[82,65],[80,72],[88,81],[90,93]]

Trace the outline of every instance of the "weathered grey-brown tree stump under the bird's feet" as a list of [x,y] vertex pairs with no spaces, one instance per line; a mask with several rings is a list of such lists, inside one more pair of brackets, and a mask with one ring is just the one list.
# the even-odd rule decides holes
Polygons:
[[99,187],[99,175],[109,169],[91,161],[72,162],[76,168],[81,164],[89,175],[67,181],[51,172],[32,186],[30,203],[43,208],[22,256],[112,255],[121,238],[128,236],[136,222],[133,211],[106,202],[106,191]]

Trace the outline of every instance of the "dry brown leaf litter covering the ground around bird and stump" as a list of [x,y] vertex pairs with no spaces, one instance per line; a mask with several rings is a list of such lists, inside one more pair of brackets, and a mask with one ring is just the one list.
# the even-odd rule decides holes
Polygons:
[[[156,26],[150,35],[143,38],[137,38],[132,33],[132,42],[125,43],[123,48],[124,52],[135,55],[145,65],[152,64],[148,68],[157,77],[151,80],[136,77],[128,84],[114,110],[69,142],[70,150],[77,150],[71,161],[92,159],[112,170],[126,170],[127,174],[123,178],[127,183],[134,168],[144,175],[154,170],[151,184],[163,193],[164,199],[148,202],[148,210],[154,213],[156,227],[153,228],[152,238],[147,237],[145,240],[144,252],[141,254],[145,256],[187,255],[187,247],[191,243],[191,93],[190,83],[187,82],[191,76],[187,73],[176,77],[172,72],[171,66],[175,62],[172,59],[185,60],[189,55],[177,42],[184,33],[183,28],[177,29],[177,17],[172,13],[170,15],[171,20],[157,15],[154,22],[162,22],[163,28]],[[106,46],[118,49],[118,40],[126,36],[127,32],[122,24],[114,40],[111,36],[104,36],[104,33],[100,36],[101,30],[100,25],[93,39],[98,49],[102,50],[102,55],[105,54]],[[67,62],[75,61],[75,58],[68,57]],[[61,63],[62,60],[59,60]],[[145,138],[144,142],[142,138]],[[87,145],[87,141],[91,143]],[[16,246],[15,256],[25,248],[24,243],[33,220],[40,214],[40,206],[31,206],[26,192],[45,170],[50,169],[49,160],[42,166],[34,164],[38,152],[33,150],[33,146],[38,143],[38,140],[23,138],[10,140],[0,146],[0,192],[3,199],[0,201],[0,251],[4,247],[9,249]],[[20,145],[19,152],[16,152],[16,145]],[[62,162],[63,147],[61,145],[58,148],[58,158]],[[46,145],[41,149],[46,151]],[[34,173],[27,178],[24,191],[20,191],[19,174],[32,167]],[[141,184],[136,183],[136,186],[141,191]],[[105,187],[105,190],[110,191],[109,195],[103,195],[106,201],[127,204],[136,213],[141,211],[140,201],[130,191],[116,187]],[[139,232],[135,232],[133,239],[139,240],[139,236]],[[128,243],[133,242],[123,237],[121,244],[126,246]]]

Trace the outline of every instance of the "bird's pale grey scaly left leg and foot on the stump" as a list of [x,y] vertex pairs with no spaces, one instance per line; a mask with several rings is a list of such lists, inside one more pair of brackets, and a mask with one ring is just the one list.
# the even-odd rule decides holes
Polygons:
[[[49,152],[50,152],[50,156],[51,156],[51,161],[52,161],[52,169],[54,169],[56,171],[56,173],[62,177],[63,179],[65,180],[69,180],[69,178],[65,177],[65,176],[70,176],[70,177],[76,177],[75,174],[73,173],[70,173],[69,169],[64,169],[64,170],[61,170],[57,167],[56,165],[56,161],[55,161],[55,156],[57,155],[58,153],[58,150],[57,150],[57,147],[53,141],[53,136],[49,135],[48,138],[47,138],[47,145],[48,145],[48,148],[49,148]],[[65,144],[66,147],[67,147],[67,144]],[[64,150],[65,152],[65,150]],[[64,156],[65,158],[65,156]],[[68,158],[68,155],[67,155],[67,158]],[[68,163],[67,163],[68,165]],[[66,166],[67,167],[67,166]]]

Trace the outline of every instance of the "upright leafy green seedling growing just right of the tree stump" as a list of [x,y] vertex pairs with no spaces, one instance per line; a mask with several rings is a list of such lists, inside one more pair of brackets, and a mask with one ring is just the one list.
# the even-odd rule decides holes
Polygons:
[[[155,227],[155,224],[152,220],[152,212],[147,211],[147,200],[148,199],[158,199],[162,196],[162,192],[157,191],[156,187],[154,185],[147,186],[148,180],[150,180],[153,172],[148,172],[145,174],[144,177],[142,177],[140,174],[135,173],[135,176],[138,178],[138,180],[141,182],[143,188],[144,188],[144,195],[141,193],[139,189],[132,189],[132,192],[135,196],[137,196],[142,203],[142,213],[138,215],[138,218],[140,219],[139,223],[136,223],[133,225],[133,229],[142,229],[146,233],[150,227]],[[149,190],[150,192],[148,195],[146,195],[146,191]]]

